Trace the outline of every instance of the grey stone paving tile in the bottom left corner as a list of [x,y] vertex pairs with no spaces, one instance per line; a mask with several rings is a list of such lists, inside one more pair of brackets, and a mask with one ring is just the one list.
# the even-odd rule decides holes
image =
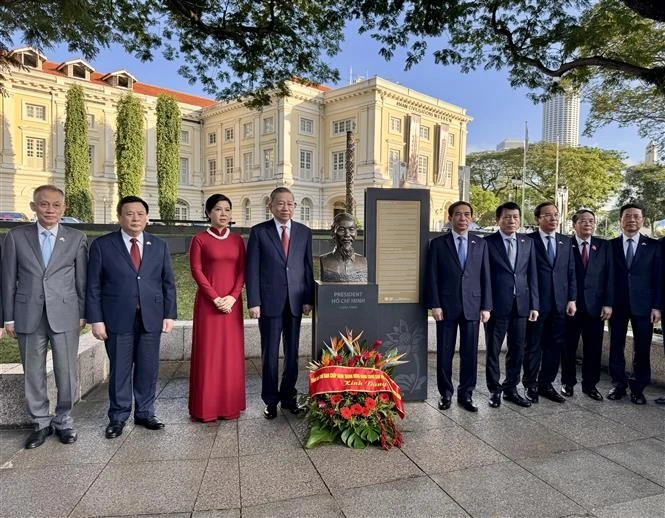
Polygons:
[[67,516],[103,464],[0,470],[2,516]]

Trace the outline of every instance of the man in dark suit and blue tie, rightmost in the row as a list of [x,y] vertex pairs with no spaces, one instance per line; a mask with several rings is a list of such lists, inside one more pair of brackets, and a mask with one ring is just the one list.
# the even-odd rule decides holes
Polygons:
[[[661,317],[661,257],[655,239],[640,234],[644,208],[628,203],[619,210],[622,233],[611,241],[614,257],[614,310],[610,320],[608,399],[618,400],[630,386],[630,400],[645,405],[644,388],[651,381],[653,326]],[[633,330],[633,373],[626,376],[626,333]]]

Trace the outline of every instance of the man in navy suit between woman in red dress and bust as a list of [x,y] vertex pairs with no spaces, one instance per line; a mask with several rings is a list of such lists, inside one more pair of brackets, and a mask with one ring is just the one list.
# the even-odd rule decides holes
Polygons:
[[[278,187],[270,193],[274,219],[252,227],[247,242],[247,307],[259,319],[261,333],[261,398],[266,419],[277,416],[277,403],[298,413],[296,381],[302,314],[314,303],[312,231],[291,218],[293,193]],[[279,342],[284,347],[284,372],[278,382]],[[278,387],[279,385],[279,387]]]

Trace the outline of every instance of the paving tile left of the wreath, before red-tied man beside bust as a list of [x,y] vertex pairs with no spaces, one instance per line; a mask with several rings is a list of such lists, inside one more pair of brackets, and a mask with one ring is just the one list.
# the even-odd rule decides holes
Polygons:
[[238,421],[240,455],[300,449],[298,438],[286,419],[245,419]]

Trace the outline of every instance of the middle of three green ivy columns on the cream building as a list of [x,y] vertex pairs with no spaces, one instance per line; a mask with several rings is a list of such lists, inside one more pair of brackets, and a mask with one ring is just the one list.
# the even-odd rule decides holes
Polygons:
[[145,168],[145,129],[143,105],[134,95],[127,94],[118,103],[115,130],[115,160],[118,196],[141,194]]

